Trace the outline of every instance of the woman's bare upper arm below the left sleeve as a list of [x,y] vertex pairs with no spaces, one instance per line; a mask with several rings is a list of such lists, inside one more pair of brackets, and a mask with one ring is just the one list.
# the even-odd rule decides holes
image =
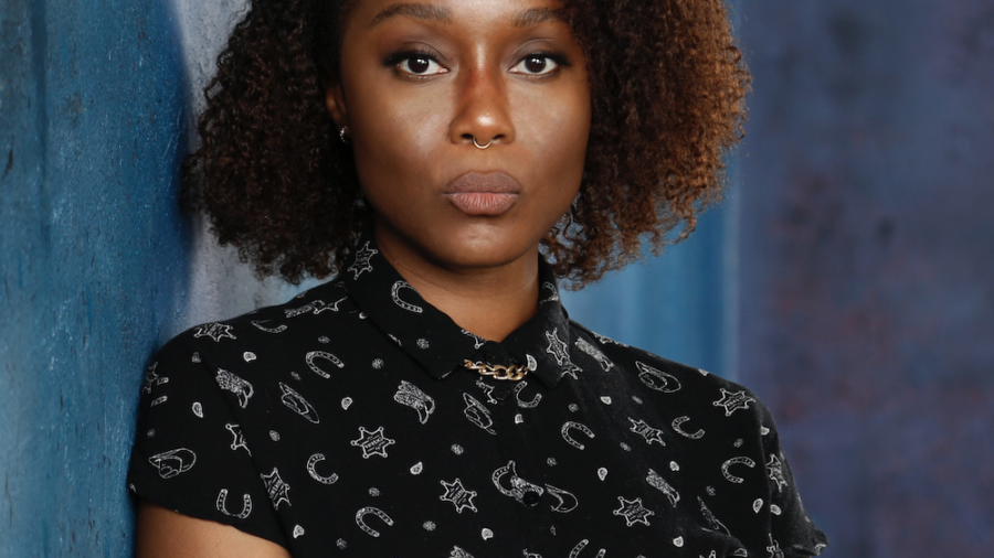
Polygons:
[[141,501],[136,558],[290,558],[282,546],[232,526]]

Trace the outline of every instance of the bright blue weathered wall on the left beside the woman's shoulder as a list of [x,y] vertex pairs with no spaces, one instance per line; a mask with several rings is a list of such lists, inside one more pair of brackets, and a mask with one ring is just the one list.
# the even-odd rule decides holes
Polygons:
[[128,556],[135,394],[189,275],[156,0],[0,2],[0,555]]

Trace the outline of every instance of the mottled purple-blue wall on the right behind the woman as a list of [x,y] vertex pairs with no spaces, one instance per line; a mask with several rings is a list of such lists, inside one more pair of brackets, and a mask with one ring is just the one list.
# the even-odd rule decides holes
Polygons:
[[826,556],[994,547],[994,3],[742,3],[740,378]]

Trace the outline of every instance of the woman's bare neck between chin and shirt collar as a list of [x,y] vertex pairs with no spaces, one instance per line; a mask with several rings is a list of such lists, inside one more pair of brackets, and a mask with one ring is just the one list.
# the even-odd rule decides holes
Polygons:
[[506,265],[463,269],[440,266],[379,234],[377,244],[426,302],[483,339],[503,341],[538,309],[538,245]]

